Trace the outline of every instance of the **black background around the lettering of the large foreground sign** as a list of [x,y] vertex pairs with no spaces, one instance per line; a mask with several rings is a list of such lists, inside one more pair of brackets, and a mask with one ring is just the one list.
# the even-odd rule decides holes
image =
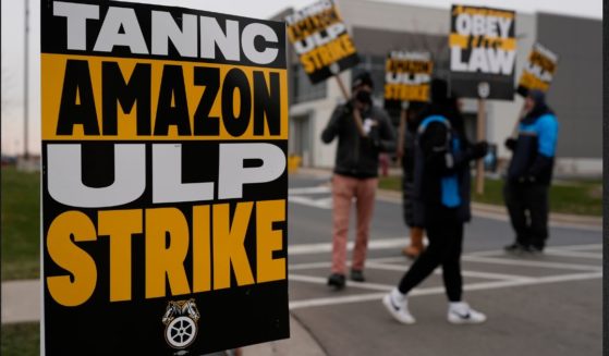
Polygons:
[[[254,22],[251,19],[221,15],[210,12],[193,11],[181,8],[166,8],[127,2],[94,2],[99,4],[100,19],[103,19],[109,7],[125,7],[135,9],[143,33],[149,34],[151,24],[145,19],[150,17],[151,10],[169,11],[178,19],[182,13],[215,16],[220,24],[230,19],[242,24]],[[41,51],[42,53],[81,54],[90,58],[105,56],[98,52],[69,51],[65,50],[66,25],[65,17],[52,15],[53,2],[41,0]],[[99,21],[100,22],[100,21]],[[94,34],[97,34],[99,22],[87,21],[87,48],[93,47]],[[268,21],[256,21],[269,25],[278,34],[279,56],[272,63],[266,65],[276,71],[285,71],[285,35],[284,24]],[[97,25],[96,25],[97,23]],[[148,38],[146,39],[149,40]],[[148,42],[149,45],[149,42]],[[243,54],[243,53],[242,53]],[[147,58],[147,59],[178,59],[175,49],[170,46],[168,57],[156,58],[154,56],[134,56],[129,53],[125,47],[115,47],[115,51],[106,56],[122,58]],[[242,58],[245,58],[242,56]],[[181,58],[180,60],[188,61]],[[204,65],[202,59],[193,59]],[[220,58],[215,63],[227,65],[253,65],[247,60],[237,62],[227,61]],[[175,62],[172,62],[175,64]],[[258,65],[259,66],[259,65]],[[42,72],[42,77],[45,73]],[[61,93],[45,93],[42,97],[60,96]],[[287,93],[281,93],[281,100],[287,100]],[[48,114],[47,119],[48,119]],[[45,120],[45,113],[42,115]],[[57,120],[57,118],[51,118]],[[281,124],[287,125],[287,118],[281,118]],[[151,147],[154,144],[180,144],[182,145],[182,179],[183,183],[216,182],[216,195],[218,192],[218,167],[219,145],[232,143],[260,143],[279,147],[284,156],[288,152],[287,139],[257,139],[257,140],[187,140],[187,142],[155,142],[151,140],[99,140],[95,137],[87,142],[78,142],[66,137],[65,140],[52,140],[42,138],[42,283],[44,283],[44,340],[42,348],[46,355],[174,355],[176,349],[170,347],[165,340],[166,326],[161,319],[166,312],[168,303],[171,300],[183,300],[194,298],[200,312],[198,320],[198,333],[192,345],[184,352],[191,355],[200,355],[215,351],[229,349],[239,346],[285,339],[290,335],[289,310],[288,310],[288,280],[236,286],[234,271],[231,275],[231,287],[226,290],[209,291],[196,294],[171,295],[171,289],[166,280],[167,296],[146,299],[145,298],[145,234],[132,235],[132,298],[129,302],[110,303],[109,291],[109,238],[97,237],[93,242],[75,243],[78,248],[85,250],[96,262],[97,283],[93,296],[84,304],[76,307],[65,307],[58,304],[48,290],[46,283],[48,277],[69,275],[70,272],[59,267],[50,257],[46,245],[47,232],[53,219],[62,212],[77,210],[85,213],[94,225],[97,226],[97,213],[100,209],[68,207],[56,201],[48,192],[48,160],[47,152],[50,144],[74,144],[82,145],[83,152],[83,183],[92,187],[103,187],[110,185],[114,180],[114,144],[137,144],[146,146],[146,191],[135,201],[111,210],[122,209],[150,209],[159,207],[172,207],[180,209],[186,221],[191,221],[193,206],[230,204],[231,221],[232,213],[240,201],[264,201],[280,199],[285,200],[288,192],[287,170],[279,179],[269,183],[245,185],[243,196],[240,199],[214,200],[214,201],[190,201],[173,204],[155,204],[151,199]],[[273,223],[273,230],[282,234],[282,249],[273,253],[273,258],[285,258],[288,265],[288,220],[285,208],[285,221]],[[145,219],[145,218],[144,218]],[[184,261],[184,268],[188,282],[192,286],[192,225],[190,225],[190,251]],[[245,250],[253,275],[256,277],[256,216],[255,207],[251,216],[245,237]],[[129,273],[129,271],[125,271]],[[212,273],[212,271],[210,271]],[[285,272],[287,275],[287,272]]]

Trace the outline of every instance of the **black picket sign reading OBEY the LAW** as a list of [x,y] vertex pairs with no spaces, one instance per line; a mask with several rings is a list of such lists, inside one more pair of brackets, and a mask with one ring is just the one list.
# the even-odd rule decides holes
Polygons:
[[512,100],[516,60],[515,13],[452,5],[451,88],[461,97]]

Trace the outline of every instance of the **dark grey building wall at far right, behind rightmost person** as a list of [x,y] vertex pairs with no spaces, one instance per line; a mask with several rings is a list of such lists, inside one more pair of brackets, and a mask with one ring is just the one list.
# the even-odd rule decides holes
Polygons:
[[602,158],[602,22],[538,14],[539,41],[559,54],[548,101],[560,122],[557,156]]

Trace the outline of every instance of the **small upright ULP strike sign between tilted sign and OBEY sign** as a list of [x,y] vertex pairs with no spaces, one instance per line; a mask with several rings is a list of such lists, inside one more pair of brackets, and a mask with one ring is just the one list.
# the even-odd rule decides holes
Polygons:
[[429,52],[392,51],[385,65],[385,108],[402,101],[429,101],[434,62]]

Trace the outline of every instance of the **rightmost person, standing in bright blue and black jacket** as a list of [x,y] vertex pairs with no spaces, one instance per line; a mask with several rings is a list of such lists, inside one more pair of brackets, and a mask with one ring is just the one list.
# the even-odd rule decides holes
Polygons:
[[516,234],[506,250],[540,253],[548,240],[548,189],[559,125],[543,91],[529,90],[524,106],[517,138],[506,140],[513,154],[503,198]]

